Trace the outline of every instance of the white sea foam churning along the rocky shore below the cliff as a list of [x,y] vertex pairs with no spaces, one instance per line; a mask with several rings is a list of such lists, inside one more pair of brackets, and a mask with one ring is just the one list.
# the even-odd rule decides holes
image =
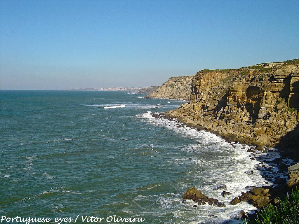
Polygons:
[[[198,223],[201,220],[209,219],[210,215],[215,215],[217,218],[228,218],[228,214],[232,211],[242,209],[245,212],[251,212],[252,210],[256,210],[256,208],[253,205],[248,204],[247,202],[241,202],[237,206],[228,205],[228,203],[234,197],[240,195],[241,191],[249,191],[249,189],[246,188],[247,186],[260,187],[265,185],[275,185],[273,183],[274,179],[267,180],[262,175],[262,171],[256,170],[257,168],[262,168],[263,165],[266,165],[265,168],[271,167],[271,169],[274,171],[274,174],[267,173],[268,176],[272,175],[273,177],[276,177],[277,175],[280,175],[280,177],[285,177],[287,179],[286,172],[282,174],[277,174],[277,165],[273,164],[272,167],[271,164],[269,165],[267,163],[261,163],[263,162],[263,160],[271,161],[274,158],[280,157],[276,149],[271,149],[273,150],[273,152],[263,153],[262,151],[255,151],[255,154],[251,154],[247,151],[251,146],[241,145],[236,142],[225,142],[224,139],[221,139],[220,137],[214,134],[211,134],[206,131],[197,131],[196,129],[190,129],[181,122],[171,121],[169,119],[164,118],[156,119],[152,117],[151,111],[136,115],[136,117],[140,118],[145,122],[149,122],[152,125],[169,128],[172,133],[183,135],[186,138],[194,139],[196,140],[196,142],[198,142],[198,144],[185,145],[182,148],[182,150],[186,152],[197,152],[198,157],[189,159],[173,158],[173,161],[168,162],[175,162],[177,164],[182,165],[186,162],[193,163],[194,169],[198,169],[198,172],[196,172],[196,170],[187,171],[187,175],[191,174],[193,175],[193,178],[199,180],[199,185],[194,187],[202,191],[202,193],[206,194],[208,197],[218,199],[220,202],[225,203],[225,209],[227,209],[227,211],[223,212],[221,210],[220,212],[219,207],[199,205],[197,209],[199,209],[200,212],[198,213],[198,215],[196,215],[196,217],[193,217],[193,220],[198,220],[196,221],[196,223]],[[178,125],[182,125],[182,127],[177,128]],[[217,154],[217,152],[218,154],[219,152],[221,152],[223,156],[222,154],[220,154],[219,157],[215,156],[214,159],[207,161],[203,160],[200,156],[201,154],[213,152],[215,152],[215,154]],[[231,155],[231,157],[230,159],[226,160],[224,155]],[[203,156],[203,158],[205,157]],[[254,160],[252,160],[251,158],[254,158]],[[293,161],[291,159],[283,159],[283,162],[287,165],[290,165]],[[219,167],[220,164],[221,168]],[[205,167],[213,167],[213,169],[205,170]],[[254,173],[252,175],[245,174],[245,172],[248,171],[254,171]],[[203,179],[206,180],[205,184],[202,184]],[[183,186],[186,185],[186,183],[181,184]],[[216,184],[227,185],[227,191],[231,192],[232,195],[223,198],[221,196],[221,192],[223,191],[223,189],[212,191],[213,185]],[[189,187],[191,186],[185,186],[184,190]],[[160,196],[160,203],[162,204],[162,206],[170,206],[171,204],[173,204],[173,200],[173,197],[165,197],[163,195]],[[192,200],[185,201],[187,201],[187,204],[186,202],[184,202],[184,208],[178,207],[176,209],[187,209],[187,211],[190,211],[190,215],[194,214],[194,202]],[[239,223],[239,221],[234,220],[233,223]]]

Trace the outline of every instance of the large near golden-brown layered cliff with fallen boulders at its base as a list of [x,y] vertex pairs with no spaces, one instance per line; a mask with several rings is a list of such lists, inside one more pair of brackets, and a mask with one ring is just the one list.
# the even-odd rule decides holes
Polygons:
[[297,150],[298,108],[299,59],[294,59],[201,70],[194,76],[190,102],[167,115],[229,141]]

